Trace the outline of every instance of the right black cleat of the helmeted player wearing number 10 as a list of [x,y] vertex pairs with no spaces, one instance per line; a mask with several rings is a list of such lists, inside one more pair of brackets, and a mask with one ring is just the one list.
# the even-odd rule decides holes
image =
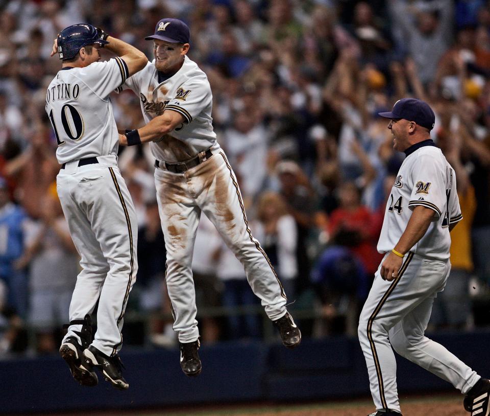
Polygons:
[[122,364],[119,355],[115,354],[112,357],[97,350],[93,345],[90,345],[83,352],[83,365],[87,368],[97,368],[102,372],[106,381],[109,381],[115,388],[126,390],[129,388],[128,382],[122,377]]

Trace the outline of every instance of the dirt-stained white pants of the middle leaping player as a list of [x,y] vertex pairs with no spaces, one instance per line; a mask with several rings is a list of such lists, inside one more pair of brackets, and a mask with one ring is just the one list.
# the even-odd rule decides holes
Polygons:
[[192,253],[201,211],[243,264],[253,292],[273,320],[286,313],[277,275],[247,223],[235,174],[223,151],[184,173],[155,169],[167,269],[165,282],[180,342],[198,338]]

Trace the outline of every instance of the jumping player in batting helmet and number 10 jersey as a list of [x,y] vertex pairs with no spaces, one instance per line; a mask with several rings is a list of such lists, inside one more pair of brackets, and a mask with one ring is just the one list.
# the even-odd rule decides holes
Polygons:
[[[117,57],[99,62],[102,47]],[[148,59],[130,44],[86,24],[63,29],[51,56],[55,53],[62,68],[47,88],[46,112],[58,142],[58,196],[82,267],[60,354],[80,384],[96,385],[97,368],[114,387],[127,389],[118,351],[138,269],[137,223],[117,167],[119,134],[109,94]],[[92,340],[91,314],[97,301]]]

